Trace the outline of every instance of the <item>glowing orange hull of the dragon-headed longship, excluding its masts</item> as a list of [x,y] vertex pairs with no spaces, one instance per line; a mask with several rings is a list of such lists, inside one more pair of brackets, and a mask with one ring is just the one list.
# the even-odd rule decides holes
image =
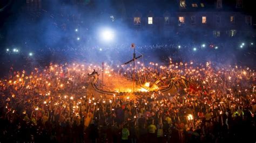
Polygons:
[[[167,78],[161,77],[159,80],[154,82],[145,82],[143,84],[140,81],[136,82],[134,85],[134,90],[132,87],[132,81],[125,78],[121,75],[112,75],[111,77],[106,77],[104,79],[104,85],[102,84],[101,80],[98,79],[99,74],[96,71],[93,71],[92,74],[88,74],[90,77],[93,77],[91,81],[91,87],[97,91],[99,94],[104,95],[124,95],[127,93],[134,93],[134,92],[166,92],[171,90],[172,88],[176,88],[178,90],[178,83],[185,83],[184,80],[180,80],[177,82],[177,78]],[[163,84],[163,81],[170,81],[167,84]]]

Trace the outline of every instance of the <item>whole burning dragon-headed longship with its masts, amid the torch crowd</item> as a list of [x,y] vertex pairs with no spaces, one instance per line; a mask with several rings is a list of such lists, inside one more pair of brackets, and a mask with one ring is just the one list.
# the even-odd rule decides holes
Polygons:
[[[133,63],[133,68],[132,71],[130,72],[130,75],[132,75],[132,81],[129,78],[126,78],[125,76],[122,76],[120,74],[116,74],[114,76],[109,75],[109,78],[104,80],[103,84],[103,76],[102,76],[102,85],[98,84],[98,76],[99,74],[97,71],[94,69],[92,74],[88,74],[89,76],[93,76],[93,81],[91,82],[92,88],[97,91],[100,94],[105,94],[105,95],[123,95],[126,94],[127,92],[166,92],[171,90],[172,88],[177,88],[177,84],[179,85],[185,85],[186,87],[186,78],[183,76],[180,77],[171,77],[170,75],[168,76],[156,76],[156,73],[150,71],[149,69],[145,68],[143,65],[143,68],[140,70],[136,69],[136,60],[139,58],[142,58],[143,55],[139,55],[136,57],[136,50],[135,50],[135,45],[132,44],[131,48],[133,49],[133,59],[130,61],[125,62],[122,66],[126,66],[131,63]],[[139,63],[138,63],[139,64]],[[158,64],[156,64],[157,66]],[[161,66],[160,66],[161,67]],[[104,63],[103,63],[103,68],[104,69]],[[129,68],[127,69],[129,70]],[[153,73],[151,79],[147,79],[145,76],[146,73],[144,71],[149,71],[148,73]],[[157,71],[157,69],[156,69]],[[108,71],[109,72],[109,71]],[[107,72],[106,72],[107,73]],[[137,76],[136,74],[137,73]],[[104,75],[104,70],[103,73]],[[126,74],[126,73],[125,73]],[[110,77],[111,76],[111,77]],[[145,80],[142,80],[143,77]],[[135,79],[137,78],[137,79]],[[150,81],[150,82],[149,82]],[[132,86],[131,86],[132,85]]]

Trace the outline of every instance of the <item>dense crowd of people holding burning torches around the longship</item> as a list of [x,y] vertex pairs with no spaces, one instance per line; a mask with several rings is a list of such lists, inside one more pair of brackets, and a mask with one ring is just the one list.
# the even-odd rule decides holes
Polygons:
[[[178,92],[95,96],[87,94],[87,73],[100,66],[10,69],[0,81],[0,141],[255,142],[254,70],[211,62],[141,66],[137,78],[173,82]],[[124,67],[110,74],[117,71],[132,74]]]

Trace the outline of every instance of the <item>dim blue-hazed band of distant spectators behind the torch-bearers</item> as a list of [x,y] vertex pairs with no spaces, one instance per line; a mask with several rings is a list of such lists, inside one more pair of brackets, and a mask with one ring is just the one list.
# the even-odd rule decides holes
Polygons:
[[[103,46],[79,45],[76,47],[67,45],[64,47],[51,47],[45,45],[31,50],[28,45],[25,45],[23,48],[16,47],[18,52],[13,52],[13,49],[8,47],[8,51],[1,53],[1,66],[5,67],[5,69],[8,69],[12,65],[15,65],[15,68],[18,68],[20,65],[23,65],[23,68],[29,67],[28,65],[32,65],[32,67],[43,65],[44,67],[48,66],[50,62],[62,63],[63,61],[123,63],[132,58],[133,49],[130,46],[130,44]],[[249,66],[255,67],[254,45],[245,43],[243,48],[239,46],[237,42],[136,44],[136,55],[143,55],[145,62],[168,62],[169,57],[171,57],[175,61],[183,62],[190,60],[206,62],[210,60],[212,62],[228,64],[249,64]],[[215,47],[218,47],[218,49],[215,49]],[[194,51],[194,48],[196,48],[196,51]],[[30,52],[32,56],[29,55]]]

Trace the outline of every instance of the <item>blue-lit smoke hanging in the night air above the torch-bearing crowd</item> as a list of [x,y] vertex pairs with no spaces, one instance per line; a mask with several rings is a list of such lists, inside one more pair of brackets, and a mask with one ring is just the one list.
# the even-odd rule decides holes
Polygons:
[[[136,10],[142,13],[143,23],[146,23],[146,13],[150,10],[174,9],[175,6],[167,2],[149,0],[144,5],[140,1],[86,0],[81,6],[69,1],[47,1],[42,10],[26,13],[17,10],[16,15],[8,18],[1,27],[5,31],[4,44],[1,46],[4,51],[8,47],[19,48],[20,52],[26,51],[24,55],[33,53],[31,57],[35,65],[42,60],[45,65],[49,62],[69,61],[122,64],[132,58],[131,43],[136,44],[136,50],[144,55],[145,61],[165,62],[171,57],[175,61],[254,63],[254,60],[245,63],[238,60],[240,56],[255,55],[255,51],[244,52],[252,47],[249,43],[253,42],[246,41],[245,37],[233,40],[201,38],[189,33],[204,33],[203,28],[187,28],[188,34],[182,34],[170,26],[171,30],[167,33],[170,37],[165,38],[164,33],[152,31],[156,25],[152,28],[142,24],[140,28],[134,28],[133,13]],[[162,17],[164,12],[154,15]],[[114,31],[111,40],[102,40],[100,35],[104,28]],[[212,30],[209,31],[212,33]],[[247,43],[242,46],[243,49],[240,48],[242,42]],[[37,55],[40,55],[39,58],[36,58]]]

